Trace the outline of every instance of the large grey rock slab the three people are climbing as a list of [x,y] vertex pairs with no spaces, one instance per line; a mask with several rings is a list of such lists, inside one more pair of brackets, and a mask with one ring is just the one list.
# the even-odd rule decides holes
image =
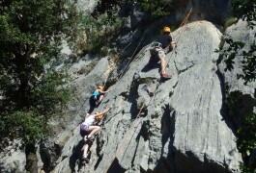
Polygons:
[[114,106],[100,123],[90,162],[77,162],[83,145],[77,126],[52,172],[240,172],[215,64],[222,35],[199,21],[172,36],[178,42],[166,55],[172,79],[159,80],[158,64],[147,65],[150,45],[144,47],[98,109]]

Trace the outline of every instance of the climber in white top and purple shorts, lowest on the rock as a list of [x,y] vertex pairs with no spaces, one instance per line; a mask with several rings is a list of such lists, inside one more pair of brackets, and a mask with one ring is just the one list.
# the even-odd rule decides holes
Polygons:
[[92,136],[94,136],[96,133],[100,131],[100,126],[92,126],[92,124],[95,121],[100,121],[101,118],[111,109],[112,107],[102,112],[96,112],[95,114],[87,113],[85,115],[85,120],[80,125],[80,135],[83,137],[83,140],[85,142],[83,146],[83,157],[82,157],[84,161],[88,161],[87,160],[88,149],[89,149],[89,143],[91,142]]

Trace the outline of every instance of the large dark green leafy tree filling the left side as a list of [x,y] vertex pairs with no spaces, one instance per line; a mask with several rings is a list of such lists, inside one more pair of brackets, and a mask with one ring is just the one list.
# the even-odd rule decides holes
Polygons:
[[[51,69],[77,16],[64,0],[0,2],[0,136],[43,136],[48,114],[66,99],[65,73]],[[47,64],[47,65],[46,65]],[[65,96],[66,95],[66,96]]]

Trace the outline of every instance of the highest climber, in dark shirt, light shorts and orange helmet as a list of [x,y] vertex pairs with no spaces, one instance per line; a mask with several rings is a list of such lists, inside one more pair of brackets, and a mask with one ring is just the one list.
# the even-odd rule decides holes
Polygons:
[[164,35],[157,37],[156,41],[153,42],[150,49],[151,58],[149,61],[149,65],[160,61],[160,76],[161,78],[165,79],[171,78],[171,76],[166,74],[165,72],[165,68],[167,65],[165,62],[165,54],[167,52],[171,52],[175,48],[176,44],[175,41],[172,40],[170,33],[171,29],[169,27],[164,27]]

